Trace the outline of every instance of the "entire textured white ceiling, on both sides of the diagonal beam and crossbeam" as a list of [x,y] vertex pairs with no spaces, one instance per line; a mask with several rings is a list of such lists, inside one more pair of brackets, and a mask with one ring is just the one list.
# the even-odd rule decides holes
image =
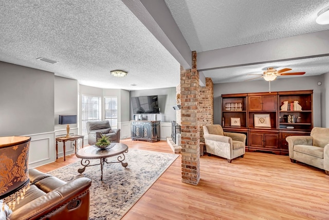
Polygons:
[[[315,23],[317,13],[328,4],[325,0],[165,2],[190,49],[198,52],[329,29],[329,25]],[[100,88],[137,90],[179,84],[179,63],[120,0],[0,3],[0,61]],[[59,63],[36,60],[40,57]],[[328,63],[328,57],[321,57],[203,74],[214,83],[240,82],[254,77],[248,74],[261,74],[264,68],[274,66],[314,76],[329,72]],[[114,78],[109,75],[114,69],[129,73]]]

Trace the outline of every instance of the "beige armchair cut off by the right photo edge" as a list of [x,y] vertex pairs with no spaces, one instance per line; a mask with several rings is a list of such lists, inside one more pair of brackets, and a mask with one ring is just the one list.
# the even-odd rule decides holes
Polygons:
[[329,128],[314,127],[310,136],[289,136],[286,141],[291,162],[306,163],[329,175]]

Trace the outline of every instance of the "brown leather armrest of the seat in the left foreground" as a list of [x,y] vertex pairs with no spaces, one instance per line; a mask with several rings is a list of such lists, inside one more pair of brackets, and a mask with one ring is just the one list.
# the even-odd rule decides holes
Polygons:
[[14,210],[7,219],[89,219],[89,187],[92,180],[81,177]]

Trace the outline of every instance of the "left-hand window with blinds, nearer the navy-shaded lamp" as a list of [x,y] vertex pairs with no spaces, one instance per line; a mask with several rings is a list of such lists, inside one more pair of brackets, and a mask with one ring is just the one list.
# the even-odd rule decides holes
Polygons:
[[101,113],[100,113],[100,104],[101,98],[98,96],[87,96],[82,95],[82,110],[81,110],[81,128],[82,128],[82,135],[87,136],[87,121],[100,121],[101,120]]

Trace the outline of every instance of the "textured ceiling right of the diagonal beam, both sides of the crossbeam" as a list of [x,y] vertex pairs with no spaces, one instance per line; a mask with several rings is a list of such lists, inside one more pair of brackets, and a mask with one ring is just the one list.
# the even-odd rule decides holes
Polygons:
[[[202,52],[270,41],[329,29],[315,22],[326,0],[165,0],[192,51]],[[311,58],[203,71],[214,83],[241,82],[266,67],[305,71],[302,77],[329,72],[329,58]],[[290,72],[291,72],[290,71]],[[301,76],[285,76],[278,79]]]

